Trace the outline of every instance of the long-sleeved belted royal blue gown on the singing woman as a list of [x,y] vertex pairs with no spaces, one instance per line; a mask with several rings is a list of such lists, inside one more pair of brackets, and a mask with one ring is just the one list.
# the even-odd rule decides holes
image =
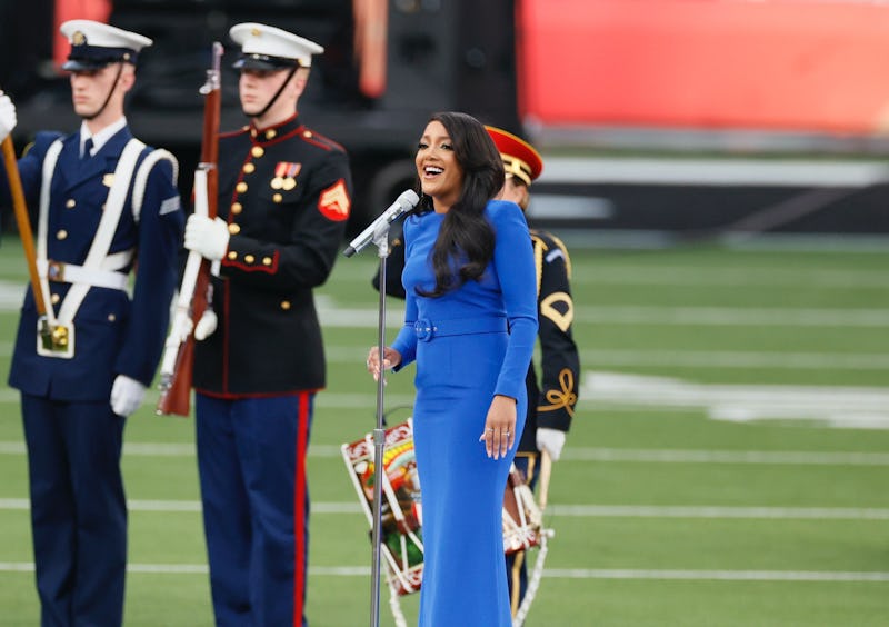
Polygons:
[[537,337],[537,286],[521,209],[491,200],[493,259],[479,281],[439,298],[429,255],[443,213],[404,222],[404,327],[392,347],[399,368],[417,361],[414,450],[423,501],[421,627],[510,626],[503,568],[502,499],[515,447],[489,458],[479,436],[495,395],[517,400],[521,438]]

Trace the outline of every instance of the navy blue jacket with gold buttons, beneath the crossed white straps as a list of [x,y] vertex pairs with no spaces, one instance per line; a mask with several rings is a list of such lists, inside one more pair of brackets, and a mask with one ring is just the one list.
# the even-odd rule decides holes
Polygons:
[[[19,160],[22,187],[33,216],[39,208],[43,158],[58,137],[58,133],[39,133],[33,147]],[[112,180],[109,175],[114,172],[131,138],[128,128],[121,129],[82,163],[79,132],[63,139],[50,188],[49,259],[83,263],[108,197]],[[149,152],[148,147],[142,150],[137,169]],[[133,262],[122,270],[136,270],[132,300],[122,290],[90,288],[73,320],[74,356],[61,359],[37,354],[37,309],[29,288],[16,339],[10,386],[54,400],[94,401],[109,398],[119,374],[146,386],[151,384],[167,335],[184,218],[169,161],[159,161],[148,177],[139,222],[131,207],[134,178],[109,250],[113,253],[136,249]],[[0,200],[8,198],[8,181],[1,176]],[[70,286],[49,285],[58,314]]]

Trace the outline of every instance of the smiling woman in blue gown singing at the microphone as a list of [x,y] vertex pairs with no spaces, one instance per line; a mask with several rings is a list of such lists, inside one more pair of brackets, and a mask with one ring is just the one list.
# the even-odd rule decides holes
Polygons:
[[[532,247],[518,205],[495,200],[503,162],[478,120],[432,116],[416,166],[422,198],[404,221],[404,326],[382,367],[417,362],[419,624],[506,627],[502,501],[537,337]],[[377,347],[368,370],[381,376]]]

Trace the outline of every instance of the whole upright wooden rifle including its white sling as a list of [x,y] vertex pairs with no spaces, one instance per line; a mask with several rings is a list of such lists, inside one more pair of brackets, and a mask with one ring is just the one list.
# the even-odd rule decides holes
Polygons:
[[[222,103],[220,64],[222,44],[213,42],[212,67],[200,89],[203,96],[201,160],[194,170],[194,212],[216,218],[219,185],[219,118]],[[188,416],[194,364],[193,329],[211,303],[210,262],[190,251],[164,342],[160,368],[160,398],[156,414]]]

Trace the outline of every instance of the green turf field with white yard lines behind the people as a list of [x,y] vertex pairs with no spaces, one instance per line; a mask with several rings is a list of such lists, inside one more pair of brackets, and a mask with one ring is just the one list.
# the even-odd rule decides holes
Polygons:
[[[3,382],[20,257],[6,238]],[[370,624],[368,524],[339,446],[374,426],[363,371],[374,261],[371,250],[341,258],[318,298],[329,388],[309,457],[308,609],[319,627]],[[553,467],[556,537],[527,625],[886,625],[889,252],[578,249],[572,262],[583,381]],[[390,376],[389,408],[410,404],[410,372]],[[156,417],[154,399],[127,427],[126,625],[210,626],[193,424]],[[0,625],[32,626],[26,456],[6,387],[0,476]],[[417,600],[402,600],[409,621]]]

